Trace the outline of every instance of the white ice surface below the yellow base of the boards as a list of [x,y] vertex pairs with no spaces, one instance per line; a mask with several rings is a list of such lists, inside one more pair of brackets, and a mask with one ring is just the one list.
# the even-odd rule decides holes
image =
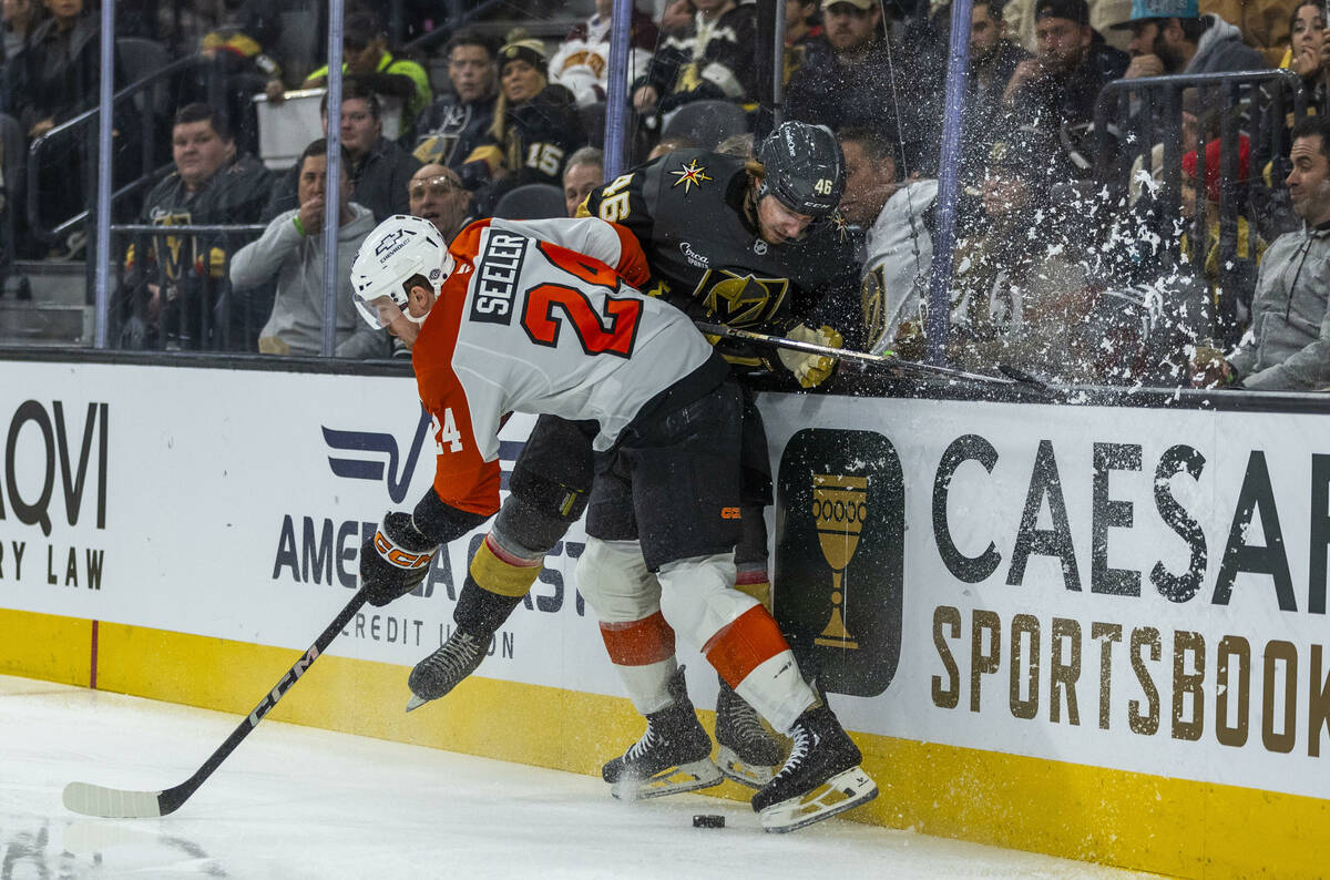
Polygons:
[[[598,779],[263,722],[178,812],[88,819],[65,783],[162,788],[239,718],[0,677],[0,875],[27,877],[1127,877],[833,819],[767,835],[747,804],[621,804]],[[693,828],[694,814],[726,827]]]

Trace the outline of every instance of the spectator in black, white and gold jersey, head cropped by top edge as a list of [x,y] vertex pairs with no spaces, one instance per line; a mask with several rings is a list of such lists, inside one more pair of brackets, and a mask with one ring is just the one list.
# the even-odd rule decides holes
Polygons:
[[757,17],[735,0],[693,0],[693,21],[666,36],[646,76],[633,82],[633,106],[669,113],[705,98],[745,101],[757,92]]

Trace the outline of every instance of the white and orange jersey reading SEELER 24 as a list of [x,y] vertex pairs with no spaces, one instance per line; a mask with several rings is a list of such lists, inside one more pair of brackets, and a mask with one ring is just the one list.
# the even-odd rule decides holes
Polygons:
[[652,397],[713,350],[677,308],[628,284],[646,259],[595,218],[479,221],[450,247],[456,267],[412,351],[435,420],[435,492],[499,509],[499,428],[511,412],[595,419],[608,449]]

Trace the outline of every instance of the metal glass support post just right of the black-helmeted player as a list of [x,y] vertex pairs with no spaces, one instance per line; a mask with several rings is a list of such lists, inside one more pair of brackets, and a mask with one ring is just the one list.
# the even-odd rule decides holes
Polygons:
[[928,363],[946,362],[951,324],[952,251],[956,249],[956,175],[960,165],[962,109],[970,78],[971,0],[951,4],[951,47],[947,51],[947,98],[942,120],[942,158],[938,165],[938,241],[932,249],[932,279],[928,284]]

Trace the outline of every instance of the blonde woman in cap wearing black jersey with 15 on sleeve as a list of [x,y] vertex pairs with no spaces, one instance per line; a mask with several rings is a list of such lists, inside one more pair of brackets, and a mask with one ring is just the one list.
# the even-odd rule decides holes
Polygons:
[[467,158],[462,181],[479,189],[476,209],[523,183],[563,183],[564,161],[587,142],[572,92],[549,85],[545,49],[521,32],[499,51],[499,101],[489,133]]

